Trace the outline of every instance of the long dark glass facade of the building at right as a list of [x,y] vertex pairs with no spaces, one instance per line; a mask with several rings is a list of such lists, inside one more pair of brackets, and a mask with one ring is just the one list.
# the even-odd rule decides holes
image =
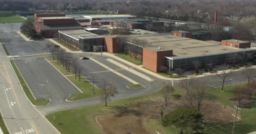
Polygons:
[[[236,57],[232,57],[232,54],[237,54]],[[201,57],[187,57],[180,59],[172,59],[170,57],[165,57],[165,66],[170,68],[171,70],[175,70],[176,68],[187,69],[187,68],[197,68],[197,67],[212,67],[218,64],[230,63],[233,60],[237,62],[247,62],[249,59],[254,58],[255,51],[245,51],[245,52],[236,52],[229,54],[216,54],[209,56],[201,56]]]

